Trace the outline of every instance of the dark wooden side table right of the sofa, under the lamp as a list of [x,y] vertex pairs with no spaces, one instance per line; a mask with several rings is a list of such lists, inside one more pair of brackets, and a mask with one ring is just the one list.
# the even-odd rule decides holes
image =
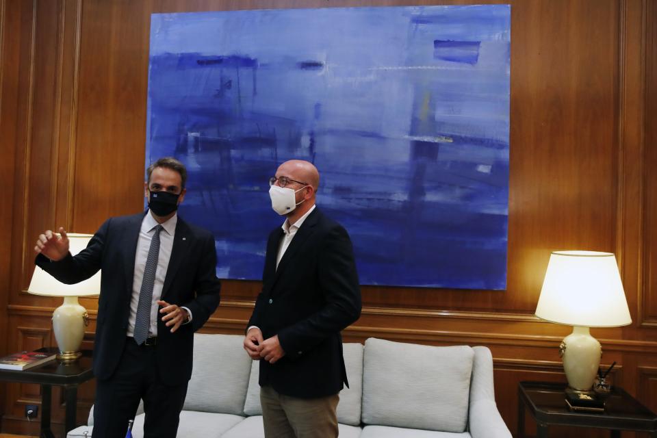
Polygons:
[[621,430],[647,432],[657,438],[657,415],[619,387],[606,398],[604,412],[570,411],[565,402],[565,383],[520,382],[518,384],[518,437],[525,436],[525,409],[536,420],[538,438],[548,438],[549,426],[609,429],[612,438]]

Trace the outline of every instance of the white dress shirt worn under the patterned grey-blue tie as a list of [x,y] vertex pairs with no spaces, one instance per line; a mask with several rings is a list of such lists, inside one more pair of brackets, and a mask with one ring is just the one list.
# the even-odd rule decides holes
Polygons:
[[[162,223],[162,231],[159,232],[159,257],[157,258],[157,269],[155,270],[155,283],[153,284],[153,300],[151,301],[151,327],[149,336],[157,336],[157,318],[159,317],[157,300],[162,298],[162,287],[164,287],[164,278],[166,270],[171,259],[171,250],[173,249],[173,237],[176,234],[176,225],[178,215]],[[151,239],[155,234],[155,227],[159,223],[149,210],[142,220],[142,228],[139,231],[139,240],[137,242],[137,252],[135,253],[135,270],[132,280],[132,297],[130,298],[130,315],[128,317],[127,335],[133,336],[135,333],[135,320],[137,318],[137,307],[139,305],[139,292],[144,280],[144,269],[146,268],[146,259],[149,257],[151,248]],[[185,309],[192,320],[192,313],[186,307]]]

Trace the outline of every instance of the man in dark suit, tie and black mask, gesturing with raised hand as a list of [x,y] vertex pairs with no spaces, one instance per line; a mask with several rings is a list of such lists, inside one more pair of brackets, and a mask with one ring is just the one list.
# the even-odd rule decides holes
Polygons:
[[125,437],[140,399],[145,437],[175,437],[192,376],[194,331],[219,304],[209,231],[177,216],[187,172],[162,158],[149,166],[146,213],[110,218],[78,255],[66,231],[45,231],[36,264],[63,283],[101,270],[94,374],[94,438]]

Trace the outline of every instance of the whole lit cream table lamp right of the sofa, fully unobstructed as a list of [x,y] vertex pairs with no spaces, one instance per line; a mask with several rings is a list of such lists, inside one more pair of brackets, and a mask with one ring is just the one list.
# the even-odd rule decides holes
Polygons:
[[632,323],[616,257],[597,251],[554,251],[545,272],[536,315],[573,326],[559,353],[569,390],[590,391],[602,348],[589,327]]

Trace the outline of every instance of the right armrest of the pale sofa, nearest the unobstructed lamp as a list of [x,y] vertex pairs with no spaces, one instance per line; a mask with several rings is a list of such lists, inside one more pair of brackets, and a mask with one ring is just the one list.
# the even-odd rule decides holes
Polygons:
[[497,404],[493,386],[493,355],[487,347],[477,346],[474,350],[468,428],[472,438],[511,438]]

